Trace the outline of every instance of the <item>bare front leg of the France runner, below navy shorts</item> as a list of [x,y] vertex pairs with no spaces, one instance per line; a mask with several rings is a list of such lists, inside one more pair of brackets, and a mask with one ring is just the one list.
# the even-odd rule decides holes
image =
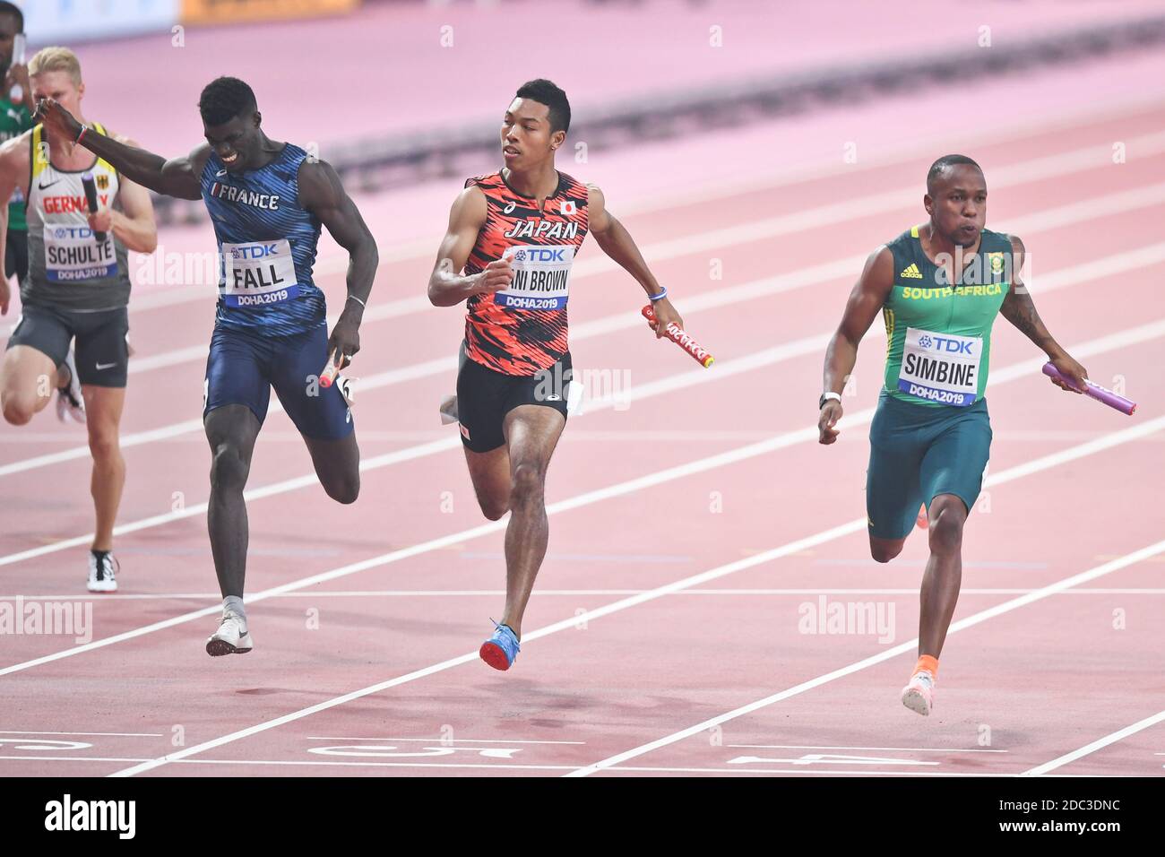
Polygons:
[[247,574],[247,506],[242,490],[261,424],[246,405],[224,405],[203,421],[211,444],[211,499],[206,521],[223,597],[242,597]]

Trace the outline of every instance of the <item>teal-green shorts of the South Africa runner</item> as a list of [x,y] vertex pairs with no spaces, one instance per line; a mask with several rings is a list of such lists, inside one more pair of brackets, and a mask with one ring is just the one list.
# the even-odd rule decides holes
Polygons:
[[966,408],[915,405],[878,396],[870,423],[866,515],[870,535],[903,539],[918,508],[939,494],[975,505],[991,450],[987,400]]

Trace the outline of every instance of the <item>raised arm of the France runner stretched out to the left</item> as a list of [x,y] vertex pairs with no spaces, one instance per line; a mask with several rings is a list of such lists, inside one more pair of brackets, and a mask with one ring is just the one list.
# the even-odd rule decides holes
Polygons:
[[[65,140],[76,141],[84,128],[72,113],[51,98],[43,98],[37,103],[34,119],[44,122],[49,134],[59,135]],[[211,154],[211,147],[206,143],[185,157],[174,157],[169,161],[153,152],[127,146],[94,131],[85,132],[82,146],[98,157],[104,157],[130,181],[163,196],[175,196],[179,199],[202,198],[198,176]]]

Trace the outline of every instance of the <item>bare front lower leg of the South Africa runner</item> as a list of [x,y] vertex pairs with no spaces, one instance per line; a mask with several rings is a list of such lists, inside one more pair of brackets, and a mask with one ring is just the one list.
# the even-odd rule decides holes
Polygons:
[[962,583],[962,528],[967,506],[954,494],[938,494],[930,507],[931,559],[926,562],[918,619],[918,654],[938,658]]

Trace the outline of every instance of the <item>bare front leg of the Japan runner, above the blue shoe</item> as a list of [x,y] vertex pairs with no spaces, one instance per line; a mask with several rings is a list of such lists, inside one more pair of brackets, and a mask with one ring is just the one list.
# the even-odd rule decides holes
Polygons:
[[546,555],[546,470],[565,424],[560,413],[539,405],[514,408],[503,423],[510,463],[510,520],[506,528],[506,611],[501,623],[518,638],[534,578]]

